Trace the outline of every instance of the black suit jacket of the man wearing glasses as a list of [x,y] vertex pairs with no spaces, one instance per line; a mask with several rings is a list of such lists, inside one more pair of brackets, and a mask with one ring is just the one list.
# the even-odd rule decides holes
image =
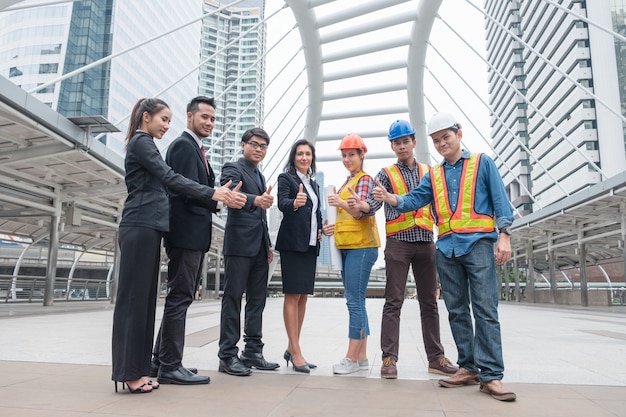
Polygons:
[[261,183],[257,182],[254,165],[245,158],[237,162],[227,162],[222,167],[220,182],[222,185],[229,180],[234,188],[243,181],[242,193],[246,194],[246,204],[240,209],[228,208],[228,219],[224,231],[224,255],[256,256],[261,245],[271,247],[267,231],[267,215],[265,209],[254,205],[254,199],[265,192],[265,177],[261,174]]

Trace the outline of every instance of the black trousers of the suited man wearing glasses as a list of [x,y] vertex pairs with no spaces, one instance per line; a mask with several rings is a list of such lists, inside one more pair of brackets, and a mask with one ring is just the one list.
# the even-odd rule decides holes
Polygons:
[[237,356],[241,336],[241,299],[246,292],[244,322],[245,351],[262,353],[263,310],[267,299],[268,249],[261,245],[256,256],[226,256],[224,296],[220,325],[220,359]]

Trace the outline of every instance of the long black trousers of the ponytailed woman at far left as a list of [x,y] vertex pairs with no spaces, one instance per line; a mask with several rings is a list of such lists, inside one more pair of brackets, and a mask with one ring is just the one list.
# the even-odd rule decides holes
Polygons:
[[150,373],[161,236],[145,227],[120,227],[120,273],[111,341],[114,381]]

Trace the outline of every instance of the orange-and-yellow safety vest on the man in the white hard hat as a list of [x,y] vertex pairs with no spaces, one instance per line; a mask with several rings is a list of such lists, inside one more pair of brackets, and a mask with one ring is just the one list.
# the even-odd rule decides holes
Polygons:
[[433,187],[433,209],[437,215],[439,237],[450,233],[493,232],[495,221],[493,215],[478,214],[474,210],[476,199],[476,180],[480,165],[480,154],[470,154],[469,159],[463,161],[463,173],[459,184],[459,200],[456,211],[450,209],[448,201],[448,187],[443,165],[430,169],[430,181]]

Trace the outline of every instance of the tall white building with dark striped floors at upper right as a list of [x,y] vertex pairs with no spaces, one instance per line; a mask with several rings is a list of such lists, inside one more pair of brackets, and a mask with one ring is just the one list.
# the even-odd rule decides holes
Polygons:
[[606,179],[591,162],[606,177],[626,166],[622,122],[607,108],[625,108],[624,64],[615,53],[621,46],[576,16],[612,28],[612,14],[613,22],[623,16],[617,3],[623,2],[560,2],[572,14],[540,0],[485,1],[495,20],[485,24],[491,135],[509,197],[522,214]]

